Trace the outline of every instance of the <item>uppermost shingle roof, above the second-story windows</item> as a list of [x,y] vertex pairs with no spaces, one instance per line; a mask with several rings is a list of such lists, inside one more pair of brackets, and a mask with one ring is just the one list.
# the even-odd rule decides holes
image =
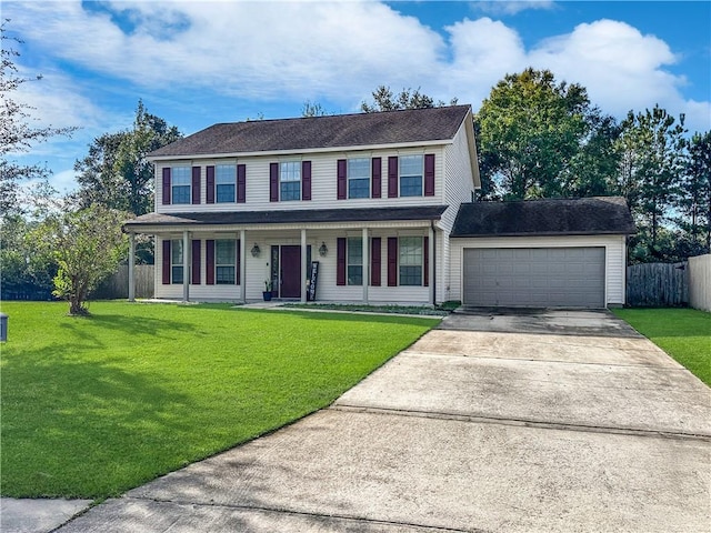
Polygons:
[[469,105],[214,124],[149,157],[311,150],[452,139]]

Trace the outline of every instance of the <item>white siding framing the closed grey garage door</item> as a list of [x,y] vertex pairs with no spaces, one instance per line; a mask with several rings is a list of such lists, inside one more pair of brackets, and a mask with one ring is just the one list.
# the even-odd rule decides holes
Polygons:
[[627,244],[624,235],[581,237],[510,237],[484,239],[452,239],[451,241],[451,299],[462,300],[462,261],[464,248],[605,248],[605,302],[624,304]]

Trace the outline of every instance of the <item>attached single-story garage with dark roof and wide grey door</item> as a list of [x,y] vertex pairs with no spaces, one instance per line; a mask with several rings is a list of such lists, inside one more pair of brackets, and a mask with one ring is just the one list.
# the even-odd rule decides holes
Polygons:
[[463,203],[450,235],[450,298],[477,306],[623,305],[635,231],[619,197]]

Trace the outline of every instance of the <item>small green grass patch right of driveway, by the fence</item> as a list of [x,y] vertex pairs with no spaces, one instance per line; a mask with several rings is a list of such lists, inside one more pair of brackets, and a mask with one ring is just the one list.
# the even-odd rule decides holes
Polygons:
[[673,308],[612,312],[711,386],[711,313]]

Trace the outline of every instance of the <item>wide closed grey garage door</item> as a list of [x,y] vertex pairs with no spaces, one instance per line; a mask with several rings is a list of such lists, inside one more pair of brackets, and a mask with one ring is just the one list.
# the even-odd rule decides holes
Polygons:
[[604,308],[604,248],[465,248],[467,305]]

